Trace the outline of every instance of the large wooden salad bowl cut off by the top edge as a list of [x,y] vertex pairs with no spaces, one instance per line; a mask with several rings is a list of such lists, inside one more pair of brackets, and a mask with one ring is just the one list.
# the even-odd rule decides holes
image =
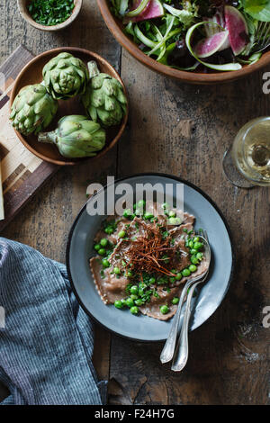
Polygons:
[[270,64],[270,51],[267,51],[254,65],[246,65],[239,70],[229,72],[211,72],[209,74],[199,72],[185,72],[183,70],[174,69],[166,65],[158,63],[153,58],[149,58],[143,53],[138,45],[131,40],[131,38],[123,32],[123,25],[121,21],[114,17],[109,4],[110,0],[97,0],[100,12],[103,15],[103,20],[109,30],[112,32],[113,37],[118,40],[122,47],[127,49],[130,54],[137,58],[143,65],[149,67],[151,70],[165,76],[171,76],[189,84],[213,85],[223,82],[234,81],[242,76],[247,76],[252,72],[265,67]]

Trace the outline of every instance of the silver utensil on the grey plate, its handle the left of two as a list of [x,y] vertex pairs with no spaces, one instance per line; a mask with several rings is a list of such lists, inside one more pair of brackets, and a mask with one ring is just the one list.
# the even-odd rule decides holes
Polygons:
[[[200,236],[200,238],[202,238],[202,237]],[[207,245],[208,241],[206,241],[205,238],[202,238],[202,243],[203,243],[203,245]],[[210,250],[209,244],[208,244],[208,248]],[[207,260],[206,251],[205,251],[205,259]],[[209,261],[209,264],[210,264],[210,261]],[[180,300],[179,300],[179,303],[178,303],[178,308],[177,308],[177,311],[175,313],[175,318],[172,322],[172,326],[171,326],[169,335],[166,339],[166,344],[163,347],[163,350],[160,354],[160,361],[163,364],[171,361],[173,356],[174,356],[174,353],[175,353],[175,343],[176,343],[176,338],[177,338],[177,335],[178,335],[178,327],[179,327],[179,321],[180,321],[180,317],[181,317],[181,310],[182,310],[182,306],[183,306],[183,303],[184,303],[186,293],[187,293],[188,289],[194,283],[196,283],[197,281],[200,281],[205,275],[208,274],[209,264],[207,266],[207,269],[205,270],[205,272],[203,272],[202,275],[195,276],[195,277],[189,279],[186,282],[186,284],[184,284],[184,288],[183,288],[183,291],[181,293]]]

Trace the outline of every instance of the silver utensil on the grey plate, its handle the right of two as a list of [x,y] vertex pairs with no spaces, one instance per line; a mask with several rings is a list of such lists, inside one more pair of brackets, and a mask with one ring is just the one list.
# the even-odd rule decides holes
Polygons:
[[205,251],[205,259],[208,262],[208,269],[206,274],[202,277],[202,279],[196,283],[194,283],[187,296],[186,305],[185,305],[185,311],[184,311],[184,318],[183,318],[183,324],[182,329],[180,333],[180,337],[177,342],[177,346],[175,349],[175,355],[173,360],[173,365],[171,369],[174,372],[181,372],[181,370],[184,369],[184,366],[186,365],[187,358],[188,358],[188,329],[189,329],[189,320],[191,317],[191,303],[193,298],[193,292],[195,288],[198,286],[198,284],[202,284],[208,276],[209,266],[211,262],[211,248],[208,242],[207,233],[203,231],[204,238],[202,238],[202,242],[204,244],[204,251]]

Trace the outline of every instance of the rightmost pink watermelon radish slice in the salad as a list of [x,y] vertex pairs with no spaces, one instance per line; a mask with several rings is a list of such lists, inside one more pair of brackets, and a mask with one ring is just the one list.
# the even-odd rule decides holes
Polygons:
[[238,56],[248,43],[248,28],[244,16],[233,6],[225,6],[225,23],[229,31],[229,43],[235,56]]

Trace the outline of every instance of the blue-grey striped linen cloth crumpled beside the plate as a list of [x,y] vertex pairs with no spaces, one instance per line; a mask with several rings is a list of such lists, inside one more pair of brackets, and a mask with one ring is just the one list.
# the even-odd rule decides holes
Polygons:
[[105,402],[106,383],[98,383],[91,360],[93,325],[66,266],[0,238],[0,306],[0,381],[11,392],[2,404]]

